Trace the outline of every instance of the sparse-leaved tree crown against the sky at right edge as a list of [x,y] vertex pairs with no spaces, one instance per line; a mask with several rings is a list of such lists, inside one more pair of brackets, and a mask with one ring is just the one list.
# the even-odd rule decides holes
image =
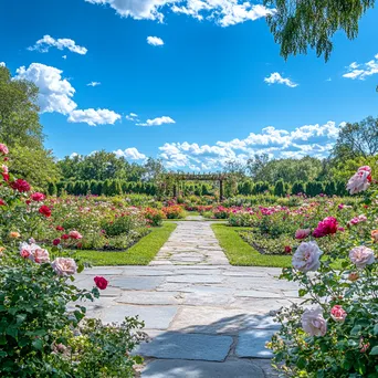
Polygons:
[[338,160],[367,158],[378,154],[378,118],[367,117],[342,127],[333,156]]

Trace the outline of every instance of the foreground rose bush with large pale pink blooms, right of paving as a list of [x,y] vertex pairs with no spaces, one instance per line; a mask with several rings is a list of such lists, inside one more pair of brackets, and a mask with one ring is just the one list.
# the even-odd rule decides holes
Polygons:
[[308,240],[283,270],[303,297],[277,313],[282,327],[267,345],[287,377],[378,377],[378,190],[370,167],[359,168],[347,189],[365,192],[365,216],[349,222],[349,238],[325,253],[308,240],[333,238],[336,219],[324,219],[313,234],[298,230]]

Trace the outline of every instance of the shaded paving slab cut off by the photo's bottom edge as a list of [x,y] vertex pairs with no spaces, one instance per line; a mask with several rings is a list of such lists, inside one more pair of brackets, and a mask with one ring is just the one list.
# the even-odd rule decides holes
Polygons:
[[264,378],[261,367],[248,360],[224,363],[154,360],[141,372],[143,378]]

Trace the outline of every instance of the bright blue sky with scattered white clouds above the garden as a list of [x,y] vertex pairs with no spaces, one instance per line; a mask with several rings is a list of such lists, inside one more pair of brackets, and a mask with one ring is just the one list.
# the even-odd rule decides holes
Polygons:
[[57,158],[106,149],[213,170],[255,153],[327,156],[340,123],[377,116],[378,11],[356,40],[336,34],[327,63],[313,52],[285,62],[269,11],[244,0],[0,0],[0,62],[40,87]]

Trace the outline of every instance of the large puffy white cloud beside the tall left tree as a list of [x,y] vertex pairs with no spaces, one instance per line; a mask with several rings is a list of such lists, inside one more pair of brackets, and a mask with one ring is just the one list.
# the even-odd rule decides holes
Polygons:
[[42,113],[70,114],[77,107],[72,99],[75,88],[62,77],[62,73],[63,71],[59,69],[32,63],[28,69],[24,66],[18,69],[14,78],[29,80],[39,87],[39,105]]

